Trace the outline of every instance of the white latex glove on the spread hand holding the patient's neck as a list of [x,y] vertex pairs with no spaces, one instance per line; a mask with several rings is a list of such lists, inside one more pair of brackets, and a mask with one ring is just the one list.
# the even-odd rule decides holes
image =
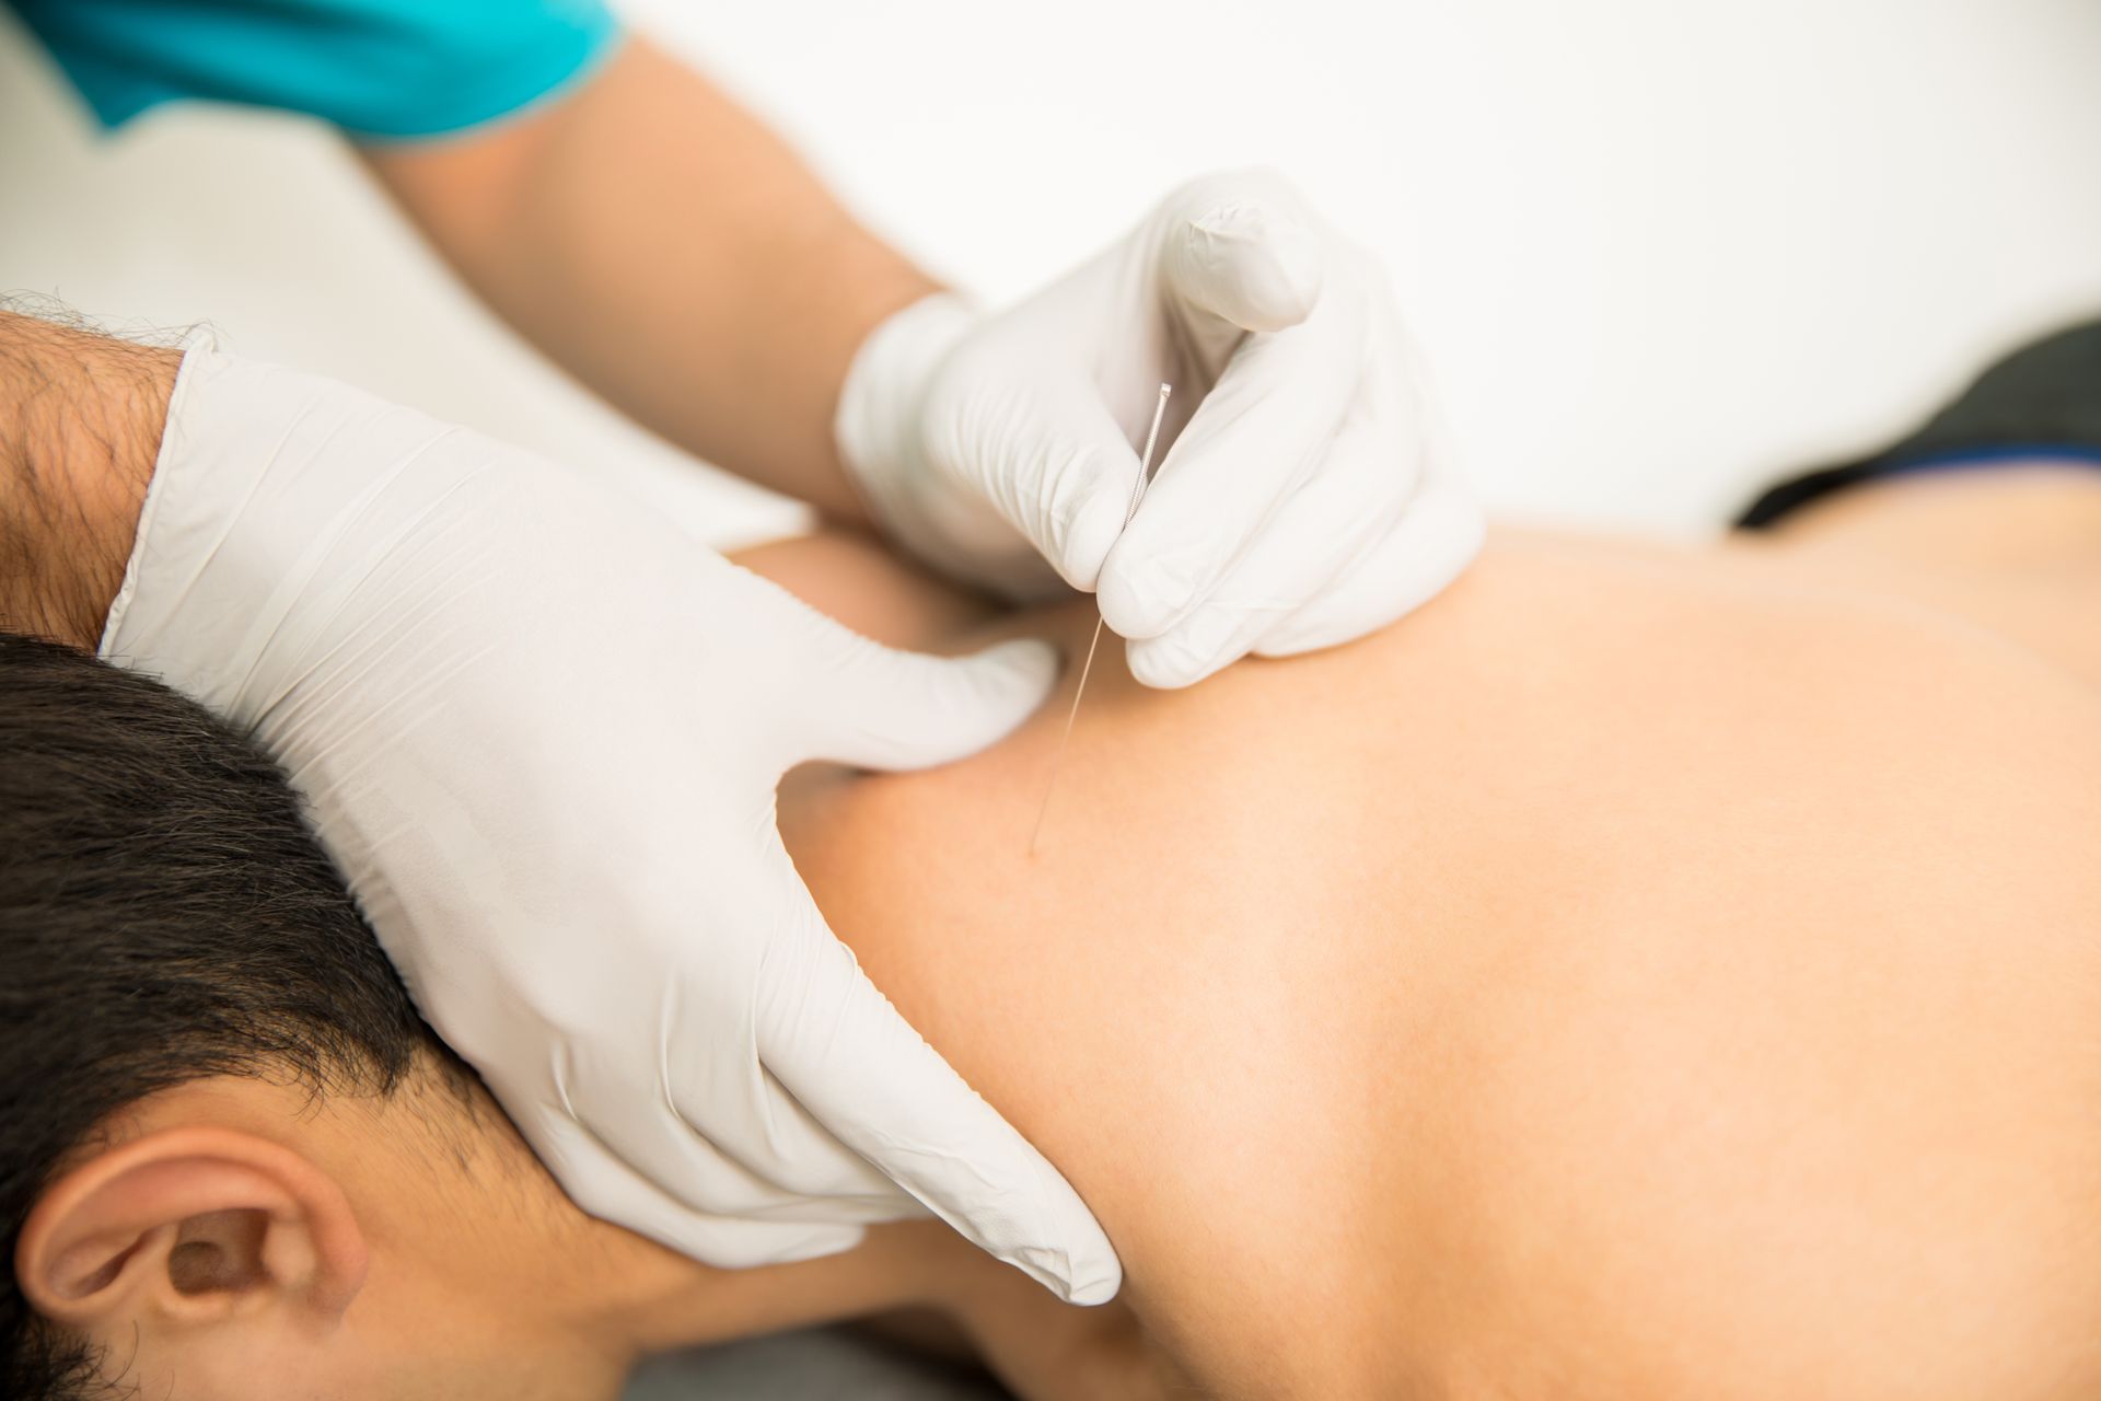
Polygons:
[[878,647],[582,475],[193,349],[101,651],[284,762],[584,1210],[742,1267],[916,1197],[1061,1296],[1116,1294],[1093,1214],[861,975],[773,819],[800,760],[998,739],[1048,647]]

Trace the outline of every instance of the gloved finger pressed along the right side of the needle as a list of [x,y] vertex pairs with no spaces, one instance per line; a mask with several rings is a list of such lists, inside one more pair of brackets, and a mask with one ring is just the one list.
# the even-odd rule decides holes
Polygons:
[[1319,468],[1359,389],[1364,336],[1361,307],[1324,296],[1301,326],[1240,342],[1103,563],[1097,592],[1116,632],[1172,628]]

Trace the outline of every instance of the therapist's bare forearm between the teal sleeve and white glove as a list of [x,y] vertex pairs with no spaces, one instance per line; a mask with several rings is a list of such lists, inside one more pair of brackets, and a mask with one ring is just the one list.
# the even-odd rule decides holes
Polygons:
[[861,519],[832,441],[838,386],[861,338],[935,284],[704,78],[630,40],[542,113],[363,155],[460,275],[599,395]]

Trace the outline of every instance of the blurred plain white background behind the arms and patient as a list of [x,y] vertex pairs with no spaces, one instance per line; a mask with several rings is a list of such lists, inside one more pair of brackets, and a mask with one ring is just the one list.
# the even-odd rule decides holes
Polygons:
[[[1271,164],[1378,248],[1492,504],[1664,529],[2101,311],[2084,0],[635,0],[882,233],[1006,298],[1185,174]],[[4,11],[0,11],[4,13]],[[92,134],[0,23],[0,290],[212,319],[662,500],[784,529],[450,286],[332,139]]]

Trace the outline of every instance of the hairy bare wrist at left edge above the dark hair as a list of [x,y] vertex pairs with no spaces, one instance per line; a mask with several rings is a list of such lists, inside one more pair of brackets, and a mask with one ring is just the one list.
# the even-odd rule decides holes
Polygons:
[[99,643],[181,363],[0,311],[0,628]]

